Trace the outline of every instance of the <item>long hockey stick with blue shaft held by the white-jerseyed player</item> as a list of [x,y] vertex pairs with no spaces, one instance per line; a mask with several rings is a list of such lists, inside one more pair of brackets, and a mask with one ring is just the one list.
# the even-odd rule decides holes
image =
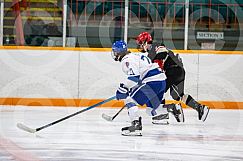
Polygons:
[[66,116],[66,117],[63,117],[63,118],[61,118],[61,119],[59,119],[59,120],[56,120],[56,121],[54,121],[54,122],[51,122],[51,123],[49,123],[49,124],[47,124],[47,125],[41,126],[41,127],[39,127],[39,128],[36,128],[36,129],[30,128],[30,127],[28,127],[28,126],[26,126],[26,125],[24,125],[24,124],[22,124],[22,123],[18,123],[18,124],[17,124],[17,127],[20,128],[21,130],[26,131],[26,132],[35,133],[35,132],[40,131],[40,130],[42,130],[42,129],[45,129],[45,128],[49,127],[49,126],[55,125],[55,124],[57,124],[57,123],[59,123],[59,122],[61,122],[61,121],[64,121],[64,120],[66,120],[66,119],[68,119],[68,118],[71,118],[71,117],[76,116],[76,115],[78,115],[78,114],[80,114],[80,113],[83,113],[83,112],[88,111],[88,110],[90,110],[90,109],[92,109],[92,108],[95,108],[95,107],[97,107],[97,106],[99,106],[99,105],[102,105],[102,104],[104,104],[104,103],[106,103],[106,102],[109,102],[109,101],[111,101],[111,100],[113,100],[113,99],[115,99],[115,98],[116,98],[116,96],[113,96],[113,97],[108,98],[108,99],[106,99],[106,100],[104,100],[104,101],[102,101],[102,102],[99,102],[99,103],[97,103],[97,104],[95,104],[95,105],[92,105],[92,106],[90,106],[90,107],[87,107],[87,108],[85,108],[85,109],[83,109],[83,110],[80,110],[80,111],[78,111],[78,112],[75,112],[75,113],[73,113],[73,114],[71,114],[71,115],[68,115],[68,116]]

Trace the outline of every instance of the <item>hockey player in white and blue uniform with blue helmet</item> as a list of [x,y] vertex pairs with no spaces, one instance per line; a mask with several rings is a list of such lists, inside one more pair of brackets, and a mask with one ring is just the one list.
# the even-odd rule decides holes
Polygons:
[[113,43],[112,57],[115,61],[121,62],[122,71],[127,77],[125,82],[120,83],[116,92],[117,100],[125,100],[131,119],[131,126],[122,128],[122,135],[142,135],[142,118],[138,113],[137,104],[146,104],[146,113],[152,116],[153,120],[159,120],[164,110],[172,112],[177,121],[184,119],[181,106],[161,104],[166,76],[158,64],[152,63],[146,55],[130,54],[127,44],[122,40]]

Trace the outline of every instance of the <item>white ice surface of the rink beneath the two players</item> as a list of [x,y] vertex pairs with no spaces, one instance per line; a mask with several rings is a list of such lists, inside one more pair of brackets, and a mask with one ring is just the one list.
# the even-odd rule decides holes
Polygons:
[[143,136],[121,136],[129,125],[126,110],[94,108],[35,134],[16,127],[38,128],[81,108],[0,107],[0,161],[240,161],[243,160],[243,110],[211,110],[202,123],[185,109],[185,122],[170,115],[169,125],[153,125],[145,110]]

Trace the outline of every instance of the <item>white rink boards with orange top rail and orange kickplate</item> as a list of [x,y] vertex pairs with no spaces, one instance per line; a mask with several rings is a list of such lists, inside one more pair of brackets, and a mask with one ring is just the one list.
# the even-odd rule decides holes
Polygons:
[[[0,52],[2,105],[89,106],[113,96],[124,79],[108,48],[2,47]],[[186,93],[212,108],[243,108],[243,52],[176,52],[186,69]],[[168,93],[166,99],[171,101]]]

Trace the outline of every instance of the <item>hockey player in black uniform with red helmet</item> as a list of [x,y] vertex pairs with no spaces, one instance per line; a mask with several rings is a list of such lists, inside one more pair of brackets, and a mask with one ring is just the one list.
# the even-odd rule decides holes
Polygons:
[[[167,49],[164,44],[153,43],[148,32],[139,34],[136,43],[141,52],[148,52],[148,57],[165,71],[167,77],[165,92],[170,89],[170,95],[174,100],[182,101],[195,109],[198,112],[198,119],[205,121],[209,107],[200,104],[191,95],[184,93],[185,69],[180,56]],[[165,100],[162,100],[163,102]]]

